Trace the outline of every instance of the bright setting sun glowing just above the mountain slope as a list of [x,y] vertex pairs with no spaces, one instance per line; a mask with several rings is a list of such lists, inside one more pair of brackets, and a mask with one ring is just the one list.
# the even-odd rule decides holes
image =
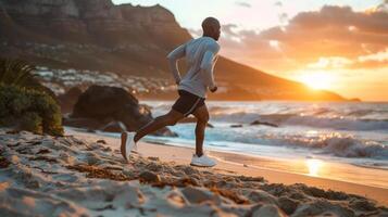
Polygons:
[[333,76],[327,73],[304,74],[300,76],[299,80],[316,90],[330,89],[334,81]]

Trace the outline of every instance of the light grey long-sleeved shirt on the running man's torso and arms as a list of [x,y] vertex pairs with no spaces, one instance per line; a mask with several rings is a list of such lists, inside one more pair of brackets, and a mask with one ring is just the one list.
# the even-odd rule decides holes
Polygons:
[[[218,59],[220,44],[211,37],[202,36],[177,47],[167,59],[179,90],[186,90],[200,98],[206,98],[208,88],[215,87],[214,65]],[[177,62],[185,58],[188,72],[182,78]]]

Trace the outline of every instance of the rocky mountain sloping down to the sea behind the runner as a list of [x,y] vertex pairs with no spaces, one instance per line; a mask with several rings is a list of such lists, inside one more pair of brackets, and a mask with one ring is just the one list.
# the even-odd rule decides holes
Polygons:
[[[0,0],[0,56],[49,68],[113,72],[173,81],[166,54],[192,37],[163,7],[115,5],[111,0]],[[182,72],[185,64],[179,62]],[[268,75],[220,56],[217,100],[329,100],[329,91]],[[145,98],[175,95],[171,89]]]

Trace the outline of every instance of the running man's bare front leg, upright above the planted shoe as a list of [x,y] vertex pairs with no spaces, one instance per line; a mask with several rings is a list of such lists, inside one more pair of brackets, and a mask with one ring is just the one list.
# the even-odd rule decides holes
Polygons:
[[202,156],[204,130],[205,130],[208,122],[209,122],[209,112],[208,112],[206,105],[202,105],[202,106],[198,107],[192,114],[197,118],[196,154],[197,154],[197,156]]

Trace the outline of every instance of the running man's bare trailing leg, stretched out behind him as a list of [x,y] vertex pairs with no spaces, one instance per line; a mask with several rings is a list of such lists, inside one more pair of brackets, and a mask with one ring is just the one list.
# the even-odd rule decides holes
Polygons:
[[179,119],[184,118],[184,115],[180,114],[179,112],[176,112],[174,110],[171,110],[167,114],[159,116],[154,118],[152,122],[140,128],[135,137],[134,141],[138,142],[141,138],[145,136],[157,131],[158,129],[161,129],[162,127],[165,126],[173,126],[175,125]]

